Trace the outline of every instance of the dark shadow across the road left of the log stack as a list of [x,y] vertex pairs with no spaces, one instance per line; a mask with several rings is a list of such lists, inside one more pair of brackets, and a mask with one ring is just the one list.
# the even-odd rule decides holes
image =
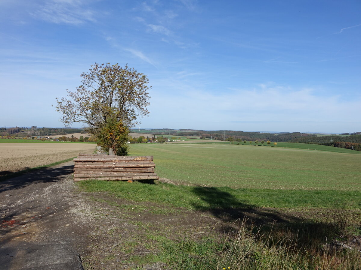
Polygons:
[[12,189],[25,188],[34,183],[56,182],[74,172],[74,165],[59,168],[42,168],[32,170],[20,176],[0,182],[0,193]]

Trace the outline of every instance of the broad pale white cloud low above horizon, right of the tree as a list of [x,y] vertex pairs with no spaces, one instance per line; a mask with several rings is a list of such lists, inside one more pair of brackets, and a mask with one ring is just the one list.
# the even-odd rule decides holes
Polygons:
[[[195,85],[194,81],[184,80],[183,75],[191,79],[193,74],[183,71],[178,72],[171,80],[152,82],[154,89],[160,87],[168,89],[167,92],[154,94],[152,118],[158,120],[164,111],[169,110],[175,115],[182,116],[174,122],[177,123],[177,127],[183,125],[184,118],[189,123],[192,122],[193,127],[198,126],[200,129],[275,128],[282,129],[281,131],[300,131],[302,127],[303,131],[307,131],[322,130],[321,125],[325,125],[328,119],[342,123],[344,119],[349,118],[349,115],[356,115],[361,106],[358,99],[360,95],[352,100],[345,100],[338,94],[320,98],[318,88],[295,88],[274,83],[260,84],[247,89],[225,88],[212,92],[207,90],[207,85]],[[207,119],[203,117],[195,119],[195,115],[206,115]],[[189,121],[190,119],[192,121]],[[263,121],[264,124],[230,125],[232,121],[244,120],[254,123]],[[184,123],[187,124],[187,121]],[[267,123],[269,121],[278,121],[280,124],[274,126]],[[315,125],[311,126],[310,121]],[[342,125],[337,126],[337,130],[340,130]]]

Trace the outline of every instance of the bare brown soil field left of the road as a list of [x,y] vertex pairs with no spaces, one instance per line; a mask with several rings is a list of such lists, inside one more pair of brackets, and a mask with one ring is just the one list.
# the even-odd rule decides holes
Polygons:
[[1,143],[0,175],[93,153],[95,147],[86,143]]

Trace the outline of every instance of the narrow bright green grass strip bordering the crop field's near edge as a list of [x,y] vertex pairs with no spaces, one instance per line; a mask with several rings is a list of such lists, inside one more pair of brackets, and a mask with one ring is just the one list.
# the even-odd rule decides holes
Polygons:
[[122,181],[82,181],[88,192],[103,191],[134,202],[165,203],[188,210],[230,208],[307,208],[338,207],[340,203],[361,209],[360,191],[232,189],[229,187],[154,185]]

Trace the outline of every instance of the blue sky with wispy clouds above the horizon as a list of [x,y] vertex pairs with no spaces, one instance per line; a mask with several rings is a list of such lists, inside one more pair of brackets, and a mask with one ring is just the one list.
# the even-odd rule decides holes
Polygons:
[[360,1],[1,0],[0,126],[63,126],[55,98],[110,62],[149,78],[141,128],[360,131],[360,10]]

